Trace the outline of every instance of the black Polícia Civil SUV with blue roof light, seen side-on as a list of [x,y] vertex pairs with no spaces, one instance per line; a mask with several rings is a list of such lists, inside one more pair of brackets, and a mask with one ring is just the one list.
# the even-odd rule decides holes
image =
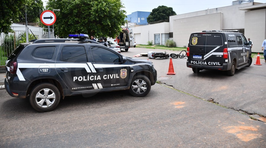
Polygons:
[[9,95],[29,95],[35,110],[48,112],[64,96],[128,89],[143,97],[150,92],[157,80],[152,62],[124,57],[85,34],[70,36],[20,44],[6,61]]

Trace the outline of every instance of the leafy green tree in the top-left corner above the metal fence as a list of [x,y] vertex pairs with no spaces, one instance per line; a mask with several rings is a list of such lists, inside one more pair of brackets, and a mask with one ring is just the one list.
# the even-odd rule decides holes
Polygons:
[[26,0],[0,0],[0,33],[12,32],[10,26],[18,22],[20,9],[24,7]]

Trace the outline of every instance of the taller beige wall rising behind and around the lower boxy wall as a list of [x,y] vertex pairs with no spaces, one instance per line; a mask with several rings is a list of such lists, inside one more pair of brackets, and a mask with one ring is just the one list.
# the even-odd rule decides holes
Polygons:
[[244,28],[244,22],[245,22],[245,11],[240,11],[239,9],[241,7],[247,7],[252,6],[253,3],[245,3],[245,4],[239,4],[239,5],[233,5],[233,6],[226,6],[226,7],[220,7],[220,8],[214,8],[214,9],[207,9],[197,12],[191,12],[181,15],[174,15],[170,16],[170,32],[173,32],[173,21],[177,19],[182,18],[189,18],[189,17],[196,17],[196,16],[202,16],[202,15],[209,15],[214,13],[222,13],[223,14],[223,30],[229,30],[229,29],[243,29]]

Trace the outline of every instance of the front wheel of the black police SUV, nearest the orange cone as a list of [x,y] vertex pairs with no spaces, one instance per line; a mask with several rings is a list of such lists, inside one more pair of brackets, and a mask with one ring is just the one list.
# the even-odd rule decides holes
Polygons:
[[145,75],[134,76],[130,84],[129,93],[132,96],[143,97],[150,92],[151,84]]

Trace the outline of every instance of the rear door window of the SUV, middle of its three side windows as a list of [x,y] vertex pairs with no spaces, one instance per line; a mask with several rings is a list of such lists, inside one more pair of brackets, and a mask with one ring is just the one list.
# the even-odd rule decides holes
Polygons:
[[60,57],[64,62],[88,62],[84,46],[64,46]]

